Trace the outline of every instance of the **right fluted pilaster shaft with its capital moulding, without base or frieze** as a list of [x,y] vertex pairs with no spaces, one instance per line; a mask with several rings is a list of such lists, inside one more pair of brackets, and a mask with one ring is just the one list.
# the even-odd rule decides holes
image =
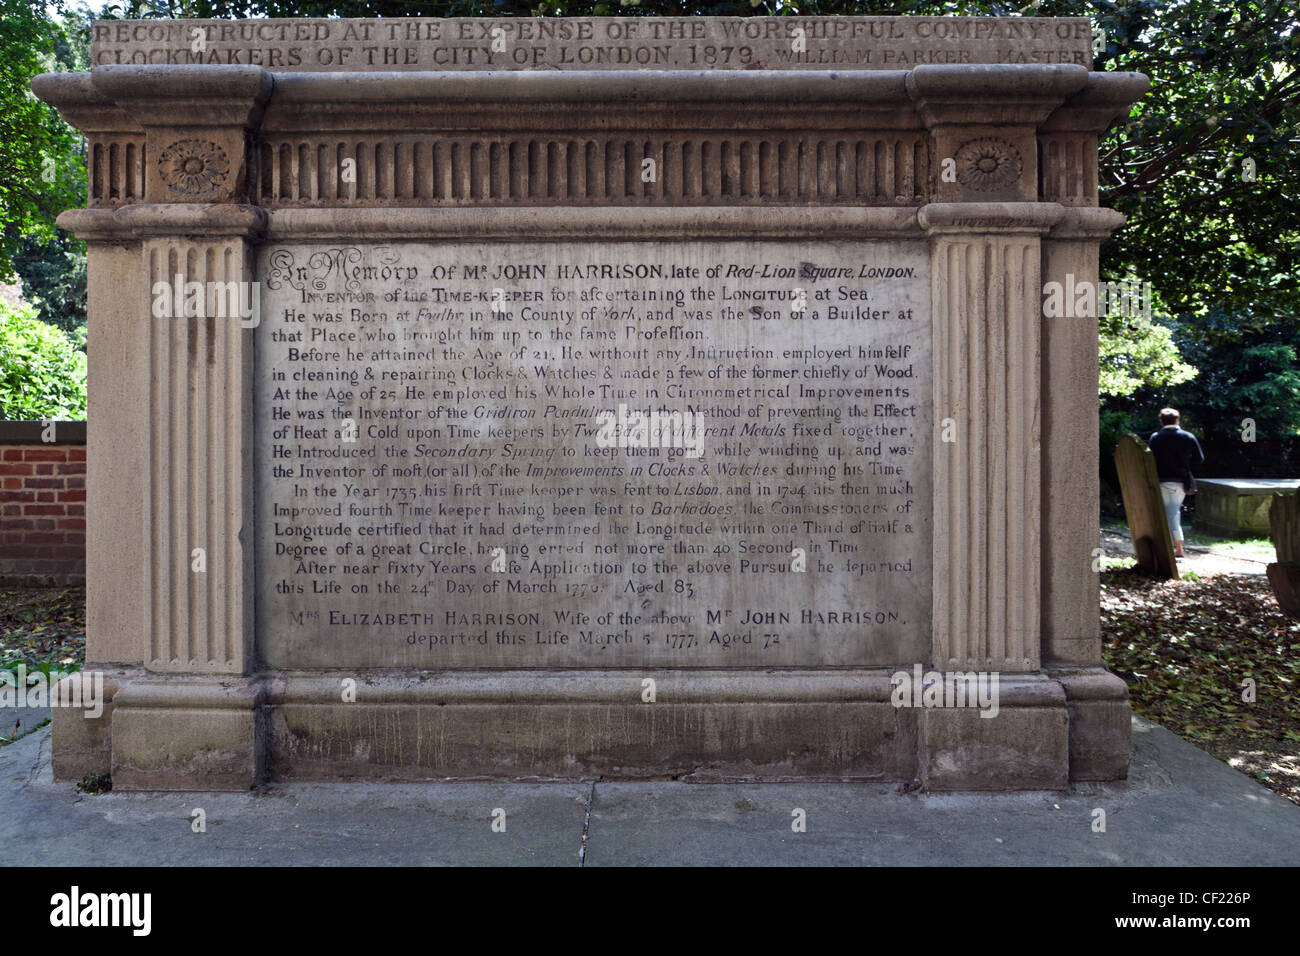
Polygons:
[[919,215],[932,238],[933,653],[944,670],[1039,669],[1039,243],[1060,216],[1032,203]]

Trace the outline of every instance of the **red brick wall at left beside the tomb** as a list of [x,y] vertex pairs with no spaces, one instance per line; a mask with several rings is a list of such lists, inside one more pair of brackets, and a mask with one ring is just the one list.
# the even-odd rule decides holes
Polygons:
[[86,423],[0,421],[0,584],[86,583]]

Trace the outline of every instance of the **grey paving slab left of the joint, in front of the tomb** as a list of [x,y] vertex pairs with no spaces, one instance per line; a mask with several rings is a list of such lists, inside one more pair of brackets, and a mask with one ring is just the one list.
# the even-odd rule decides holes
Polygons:
[[[49,731],[0,749],[0,864],[576,866],[590,784],[292,784],[101,793],[56,783]],[[205,812],[207,832],[192,831]],[[493,810],[506,831],[493,832]]]

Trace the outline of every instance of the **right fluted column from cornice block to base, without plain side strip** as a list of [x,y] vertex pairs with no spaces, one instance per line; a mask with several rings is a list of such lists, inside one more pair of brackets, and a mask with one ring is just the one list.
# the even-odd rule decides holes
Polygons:
[[[1088,70],[919,66],[935,202],[933,665],[997,675],[994,718],[928,709],[922,766],[939,788],[1063,787],[1065,695],[1041,672],[1041,237],[1036,129]],[[983,101],[982,101],[983,100]]]

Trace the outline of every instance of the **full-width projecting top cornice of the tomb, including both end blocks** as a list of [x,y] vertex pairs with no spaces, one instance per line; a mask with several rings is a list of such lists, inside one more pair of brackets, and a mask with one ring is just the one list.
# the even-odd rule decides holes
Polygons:
[[[511,109],[516,127],[542,126],[555,111],[578,109],[578,127],[599,121],[601,109],[636,114],[654,105],[708,111],[731,127],[737,112],[760,112],[770,122],[789,112],[849,108],[859,129],[1043,124],[1092,127],[1141,95],[1141,74],[1097,74],[1083,66],[916,66],[913,70],[708,72],[575,70],[566,73],[281,73],[259,66],[99,66],[88,74],[43,74],[36,95],[87,133],[143,126],[255,126],[260,109],[274,127],[298,129],[290,116],[348,114],[350,129],[385,129],[382,113],[463,113],[469,105]],[[1070,98],[1069,101],[1066,98]],[[519,105],[528,104],[520,114]],[[779,109],[785,104],[786,109]],[[1065,104],[1065,107],[1062,107]],[[285,107],[292,111],[283,111]],[[384,107],[382,111],[378,108]],[[719,108],[727,111],[719,116]],[[1071,114],[1079,112],[1079,120]],[[910,114],[910,116],[909,116]],[[532,118],[529,118],[532,117]],[[630,117],[629,117],[630,118]]]

